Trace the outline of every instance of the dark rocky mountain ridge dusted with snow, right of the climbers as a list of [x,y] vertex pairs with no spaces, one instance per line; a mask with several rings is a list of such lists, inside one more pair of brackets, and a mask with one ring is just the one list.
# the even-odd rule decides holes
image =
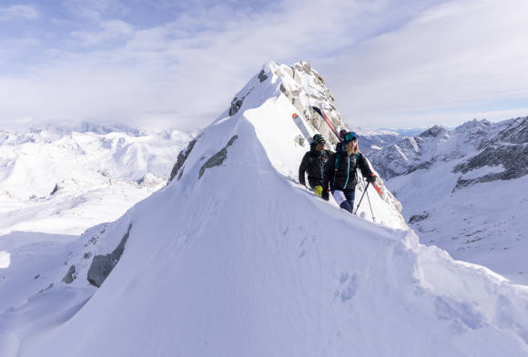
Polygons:
[[[499,123],[474,119],[447,130],[435,126],[414,138],[401,138],[395,144],[372,153],[371,161],[381,176],[391,179],[417,169],[430,168],[436,161],[460,160],[453,172],[467,173],[484,166],[508,165],[503,175],[487,179],[513,179],[527,173],[528,117],[518,117]],[[485,179],[484,179],[485,180]],[[462,182],[467,185],[477,182]],[[482,182],[482,180],[481,180]],[[455,188],[453,188],[455,189]]]

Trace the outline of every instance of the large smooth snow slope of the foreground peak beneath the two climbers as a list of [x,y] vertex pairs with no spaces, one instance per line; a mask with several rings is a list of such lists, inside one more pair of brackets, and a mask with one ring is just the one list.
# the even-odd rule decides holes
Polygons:
[[[401,221],[382,199],[384,226],[291,181],[303,153],[296,109],[277,67],[264,69],[268,79],[200,134],[168,187],[57,249],[66,265],[46,270],[69,283],[17,300],[5,285],[27,279],[20,262],[0,270],[0,293],[17,300],[0,310],[0,355],[528,353],[524,287],[387,227]],[[88,286],[97,261],[122,248],[100,288]]]

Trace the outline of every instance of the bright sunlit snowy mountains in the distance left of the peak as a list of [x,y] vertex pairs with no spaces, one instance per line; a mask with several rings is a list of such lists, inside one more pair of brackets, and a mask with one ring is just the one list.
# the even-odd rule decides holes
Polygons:
[[84,125],[0,131],[0,235],[79,234],[161,188],[190,139]]

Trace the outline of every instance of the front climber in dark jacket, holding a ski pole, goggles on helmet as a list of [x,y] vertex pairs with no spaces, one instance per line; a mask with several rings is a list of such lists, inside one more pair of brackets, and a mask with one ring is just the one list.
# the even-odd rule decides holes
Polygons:
[[376,176],[372,173],[363,154],[360,153],[356,133],[343,135],[340,148],[329,158],[325,166],[321,196],[323,199],[330,199],[330,185],[330,192],[340,208],[353,214],[354,193],[358,183],[356,168],[360,168],[361,174],[367,178],[368,182],[375,182]]

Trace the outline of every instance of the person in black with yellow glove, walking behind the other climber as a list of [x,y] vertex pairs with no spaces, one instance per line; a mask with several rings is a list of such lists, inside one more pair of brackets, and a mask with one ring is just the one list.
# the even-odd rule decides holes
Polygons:
[[324,148],[326,142],[320,134],[313,136],[310,151],[304,154],[299,167],[299,182],[306,186],[305,172],[308,173],[310,188],[320,196],[322,191],[323,170],[332,152]]

